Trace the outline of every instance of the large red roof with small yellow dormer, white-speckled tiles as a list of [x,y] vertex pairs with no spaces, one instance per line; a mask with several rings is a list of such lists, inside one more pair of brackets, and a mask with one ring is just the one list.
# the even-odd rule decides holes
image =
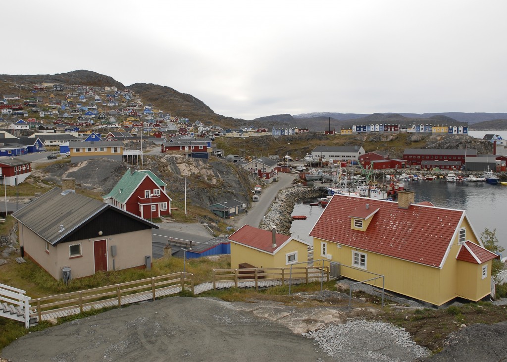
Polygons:
[[[349,215],[359,209],[380,209],[366,231],[351,228]],[[349,245],[415,263],[440,267],[451,244],[463,210],[335,194],[325,207],[310,236]]]

